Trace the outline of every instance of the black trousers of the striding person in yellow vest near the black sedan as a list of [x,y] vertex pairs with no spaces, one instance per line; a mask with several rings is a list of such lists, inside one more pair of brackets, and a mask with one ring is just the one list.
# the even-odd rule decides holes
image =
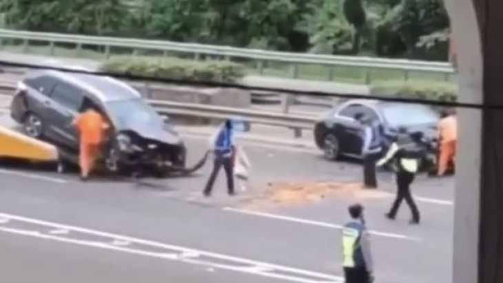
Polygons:
[[398,191],[396,194],[396,200],[391,207],[391,211],[389,211],[389,216],[391,218],[395,218],[402,201],[405,200],[407,205],[411,208],[412,211],[412,219],[415,221],[419,221],[420,215],[418,207],[415,205],[415,202],[411,195],[410,185],[414,180],[415,175],[409,173],[407,171],[398,171],[396,174],[396,185],[398,187]]

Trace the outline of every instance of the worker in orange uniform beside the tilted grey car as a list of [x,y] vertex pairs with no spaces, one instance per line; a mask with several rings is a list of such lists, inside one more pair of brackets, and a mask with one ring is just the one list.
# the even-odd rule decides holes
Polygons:
[[105,118],[95,109],[88,108],[74,120],[74,126],[80,134],[81,179],[87,180],[100,153],[103,136],[110,127]]

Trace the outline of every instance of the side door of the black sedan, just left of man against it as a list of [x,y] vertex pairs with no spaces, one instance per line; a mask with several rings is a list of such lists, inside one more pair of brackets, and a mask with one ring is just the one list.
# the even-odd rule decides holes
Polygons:
[[363,112],[360,103],[343,105],[335,116],[338,120],[340,149],[344,154],[357,155],[361,150],[362,125],[354,117]]

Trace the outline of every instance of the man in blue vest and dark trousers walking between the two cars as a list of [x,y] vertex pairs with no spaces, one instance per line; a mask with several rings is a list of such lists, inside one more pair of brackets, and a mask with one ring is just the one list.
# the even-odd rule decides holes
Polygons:
[[213,185],[220,168],[223,167],[225,175],[227,176],[227,189],[230,196],[234,196],[234,144],[232,140],[233,130],[232,121],[225,120],[224,126],[217,133],[212,141],[214,153],[214,165],[212,174],[206,183],[204,195],[210,196],[212,194]]

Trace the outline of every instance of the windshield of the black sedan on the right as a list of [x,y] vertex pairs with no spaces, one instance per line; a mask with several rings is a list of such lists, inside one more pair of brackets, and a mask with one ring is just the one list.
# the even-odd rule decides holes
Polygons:
[[382,107],[384,118],[393,127],[436,123],[438,114],[424,105],[387,104]]

